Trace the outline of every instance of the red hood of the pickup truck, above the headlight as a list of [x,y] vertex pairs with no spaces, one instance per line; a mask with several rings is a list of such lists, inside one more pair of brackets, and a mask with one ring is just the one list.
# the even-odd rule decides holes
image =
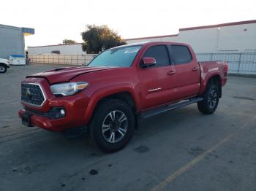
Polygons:
[[50,71],[40,72],[37,74],[32,74],[29,77],[42,77],[48,80],[50,84],[55,84],[58,82],[69,82],[71,79],[78,77],[81,74],[86,74],[89,72],[95,71],[102,71],[108,69],[115,69],[117,67],[108,67],[108,66],[101,66],[101,67],[87,67],[87,66],[80,66],[80,67],[64,67],[59,69],[54,69]]

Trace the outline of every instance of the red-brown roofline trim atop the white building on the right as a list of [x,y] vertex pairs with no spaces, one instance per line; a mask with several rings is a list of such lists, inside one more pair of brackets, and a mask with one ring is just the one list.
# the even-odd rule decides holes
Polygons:
[[[245,20],[245,21],[238,21],[233,23],[222,23],[217,25],[211,26],[195,26],[189,28],[179,28],[178,31],[189,31],[189,30],[196,30],[196,29],[203,29],[203,28],[217,28],[222,26],[237,26],[237,25],[244,25],[244,24],[252,24],[256,23],[256,20]],[[148,36],[148,37],[140,37],[140,38],[132,38],[132,39],[124,39],[124,40],[140,40],[140,39],[157,39],[157,38],[164,38],[164,37],[172,37],[178,36],[178,34],[170,34],[170,35],[162,35],[162,36]]]

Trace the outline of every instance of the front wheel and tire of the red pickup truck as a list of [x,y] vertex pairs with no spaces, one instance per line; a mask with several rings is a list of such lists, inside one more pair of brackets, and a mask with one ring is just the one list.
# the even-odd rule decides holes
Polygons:
[[89,123],[90,139],[104,152],[125,147],[135,130],[135,115],[124,101],[103,101]]

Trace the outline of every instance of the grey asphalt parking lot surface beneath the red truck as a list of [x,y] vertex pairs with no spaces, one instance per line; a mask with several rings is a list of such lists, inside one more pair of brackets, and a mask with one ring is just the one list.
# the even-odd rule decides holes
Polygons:
[[86,136],[21,125],[20,81],[58,67],[0,75],[0,190],[256,190],[256,78],[229,77],[214,114],[196,104],[160,114],[105,154]]

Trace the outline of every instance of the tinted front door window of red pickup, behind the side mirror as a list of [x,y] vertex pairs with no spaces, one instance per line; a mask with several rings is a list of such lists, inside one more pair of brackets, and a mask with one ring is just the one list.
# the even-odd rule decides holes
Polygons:
[[155,58],[157,63],[154,67],[170,65],[167,47],[165,45],[149,47],[148,50],[146,50],[146,52],[144,53],[143,57]]

